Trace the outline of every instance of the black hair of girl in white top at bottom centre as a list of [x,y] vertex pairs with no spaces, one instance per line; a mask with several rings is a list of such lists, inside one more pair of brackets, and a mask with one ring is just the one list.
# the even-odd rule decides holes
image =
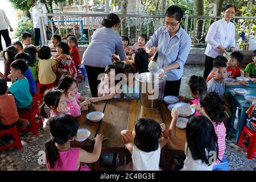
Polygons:
[[159,123],[150,118],[139,118],[135,123],[134,144],[139,150],[151,152],[158,150],[162,131]]

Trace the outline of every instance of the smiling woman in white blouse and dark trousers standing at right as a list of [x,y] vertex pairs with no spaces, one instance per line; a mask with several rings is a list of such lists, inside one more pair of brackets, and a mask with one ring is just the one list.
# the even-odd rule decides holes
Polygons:
[[204,78],[206,79],[209,73],[213,69],[213,59],[218,55],[223,55],[226,52],[226,48],[234,48],[235,41],[235,26],[230,22],[236,13],[235,5],[226,5],[223,8],[224,17],[210,25],[205,42],[207,42],[207,48],[205,50],[205,69]]

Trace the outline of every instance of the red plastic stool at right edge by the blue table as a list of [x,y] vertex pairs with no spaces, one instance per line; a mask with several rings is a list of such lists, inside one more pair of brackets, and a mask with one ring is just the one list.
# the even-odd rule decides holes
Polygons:
[[[249,147],[246,147],[242,141],[247,140],[246,135],[249,136]],[[253,159],[253,156],[256,155],[255,149],[256,149],[256,132],[249,129],[249,127],[244,126],[240,139],[238,140],[237,146],[241,145],[247,152],[247,158]]]

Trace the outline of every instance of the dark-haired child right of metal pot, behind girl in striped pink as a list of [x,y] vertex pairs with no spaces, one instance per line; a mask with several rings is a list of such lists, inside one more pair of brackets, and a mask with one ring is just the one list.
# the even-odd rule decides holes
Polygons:
[[[191,105],[198,105],[200,96],[202,96],[204,93],[207,93],[207,84],[203,77],[193,75],[189,78],[188,85],[193,99],[184,96],[179,96],[179,99],[180,101],[189,102]],[[195,115],[200,115],[200,113],[196,111]]]

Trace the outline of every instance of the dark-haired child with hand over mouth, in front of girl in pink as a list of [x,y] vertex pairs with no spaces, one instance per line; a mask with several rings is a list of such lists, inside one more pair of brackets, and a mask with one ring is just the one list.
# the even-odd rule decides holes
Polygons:
[[41,106],[41,115],[43,118],[49,118],[49,115],[44,109],[46,105],[51,109],[51,118],[60,114],[71,114],[69,108],[67,108],[65,94],[59,89],[49,89],[44,93],[44,103]]

